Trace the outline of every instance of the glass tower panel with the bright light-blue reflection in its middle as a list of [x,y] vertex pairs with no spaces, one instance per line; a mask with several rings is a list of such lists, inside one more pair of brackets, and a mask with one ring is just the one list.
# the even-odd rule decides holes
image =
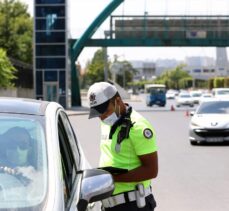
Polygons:
[[65,19],[58,19],[56,15],[49,15],[46,19],[36,20],[37,30],[55,30],[55,29],[65,29]]

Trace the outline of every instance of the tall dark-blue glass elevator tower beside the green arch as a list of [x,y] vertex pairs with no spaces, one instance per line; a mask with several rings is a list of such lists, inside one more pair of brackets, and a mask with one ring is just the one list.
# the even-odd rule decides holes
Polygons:
[[35,96],[67,107],[67,0],[35,0],[34,3]]

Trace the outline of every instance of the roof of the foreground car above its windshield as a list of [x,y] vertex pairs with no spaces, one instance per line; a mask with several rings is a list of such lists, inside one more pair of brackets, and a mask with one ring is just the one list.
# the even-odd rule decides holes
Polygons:
[[49,102],[29,98],[0,97],[0,113],[45,114]]

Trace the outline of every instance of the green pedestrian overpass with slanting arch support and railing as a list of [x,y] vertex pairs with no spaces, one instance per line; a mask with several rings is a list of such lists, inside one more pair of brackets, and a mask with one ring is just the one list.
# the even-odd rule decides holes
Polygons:
[[[123,2],[113,0],[71,43],[72,105],[80,105],[75,61],[84,47],[181,47],[229,46],[229,16],[118,16],[111,13]],[[96,29],[109,17],[105,37],[93,39]]]

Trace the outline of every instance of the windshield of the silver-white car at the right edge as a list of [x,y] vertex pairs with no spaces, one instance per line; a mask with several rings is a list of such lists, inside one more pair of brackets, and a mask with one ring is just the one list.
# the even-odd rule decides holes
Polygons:
[[229,101],[204,102],[197,114],[229,114]]

